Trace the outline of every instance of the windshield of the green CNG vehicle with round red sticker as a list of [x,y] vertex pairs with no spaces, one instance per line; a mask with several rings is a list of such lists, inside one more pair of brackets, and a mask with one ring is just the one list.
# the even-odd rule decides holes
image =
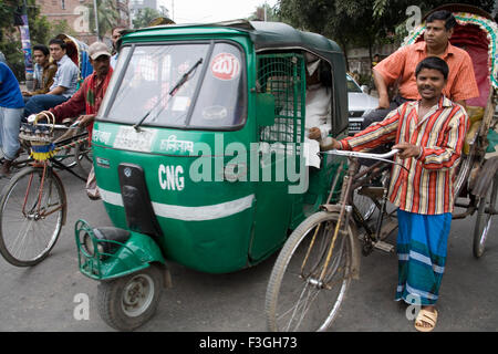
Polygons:
[[123,48],[101,118],[136,124],[148,114],[141,125],[240,126],[247,115],[243,63],[240,49],[228,42]]

